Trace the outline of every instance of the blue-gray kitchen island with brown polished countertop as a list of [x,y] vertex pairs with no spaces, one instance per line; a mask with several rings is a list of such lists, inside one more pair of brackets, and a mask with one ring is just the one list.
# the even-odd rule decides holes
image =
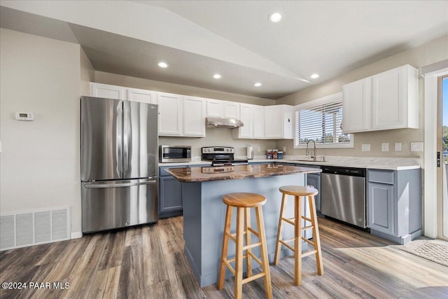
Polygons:
[[[223,195],[248,192],[267,198],[262,210],[269,262],[272,262],[281,205],[279,188],[285,185],[304,186],[305,174],[321,172],[321,169],[267,163],[170,168],[167,172],[182,182],[184,251],[198,283],[204,287],[218,281],[226,208],[222,201]],[[308,210],[305,205],[302,209]],[[286,211],[290,211],[288,217],[293,216],[293,200],[289,200]],[[235,231],[235,213],[233,216],[232,231]],[[251,221],[251,225],[256,228],[254,212]],[[293,232],[293,225],[285,225],[283,236],[290,239]],[[256,242],[255,236],[253,239]],[[258,248],[253,251],[260,256]],[[230,242],[229,256],[232,252],[235,252],[235,244]],[[281,256],[291,254],[292,251],[283,246]],[[254,267],[257,265],[253,263]],[[227,275],[230,274],[228,270]]]

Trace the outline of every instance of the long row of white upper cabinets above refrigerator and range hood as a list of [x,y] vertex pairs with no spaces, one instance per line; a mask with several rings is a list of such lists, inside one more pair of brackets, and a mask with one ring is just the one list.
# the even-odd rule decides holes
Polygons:
[[160,136],[205,137],[205,118],[236,118],[243,127],[232,130],[239,139],[293,139],[293,107],[258,106],[204,99],[137,88],[90,83],[92,97],[158,104]]

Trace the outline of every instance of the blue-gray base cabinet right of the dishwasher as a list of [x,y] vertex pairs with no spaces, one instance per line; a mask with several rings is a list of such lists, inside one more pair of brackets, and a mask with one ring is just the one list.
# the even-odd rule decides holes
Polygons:
[[421,235],[421,169],[367,169],[367,227],[399,244]]

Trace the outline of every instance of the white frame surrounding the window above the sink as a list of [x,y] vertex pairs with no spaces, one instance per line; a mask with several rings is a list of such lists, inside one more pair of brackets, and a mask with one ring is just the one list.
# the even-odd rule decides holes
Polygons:
[[[302,145],[298,145],[296,146],[296,139],[297,139],[297,134],[295,132],[295,113],[297,111],[303,110],[303,109],[311,109],[314,108],[316,106],[321,106],[321,105],[325,105],[325,104],[330,104],[332,102],[337,102],[342,100],[342,92],[337,92],[333,95],[328,95],[326,97],[321,97],[318,99],[313,99],[309,102],[305,102],[302,104],[298,104],[294,106],[294,148],[307,148],[306,144],[302,144]],[[333,143],[333,144],[316,144],[316,148],[353,148],[354,147],[354,135],[350,134],[350,142],[348,144],[337,144],[337,143]]]

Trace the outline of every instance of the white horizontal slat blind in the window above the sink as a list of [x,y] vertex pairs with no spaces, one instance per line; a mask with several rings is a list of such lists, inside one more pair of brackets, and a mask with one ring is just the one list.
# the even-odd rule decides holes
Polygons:
[[316,144],[350,144],[342,134],[342,100],[295,111],[295,146],[314,140]]

